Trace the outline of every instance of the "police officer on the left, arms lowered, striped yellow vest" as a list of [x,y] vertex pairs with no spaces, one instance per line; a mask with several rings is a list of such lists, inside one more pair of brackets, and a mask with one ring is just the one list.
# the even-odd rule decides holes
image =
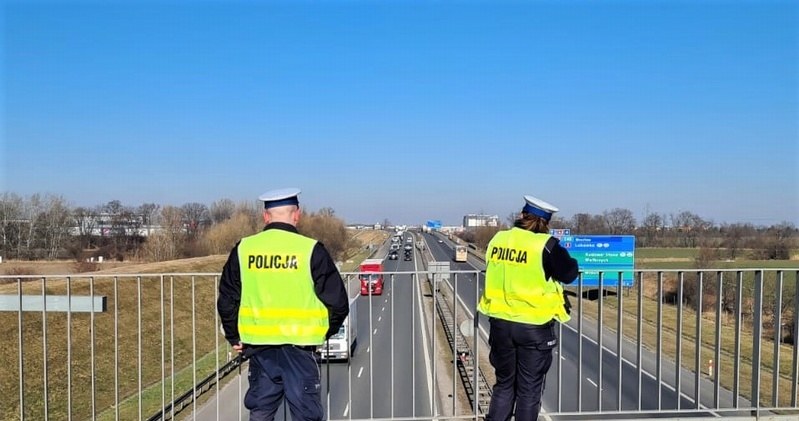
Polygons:
[[349,313],[330,254],[297,232],[299,193],[280,189],[259,197],[266,227],[233,248],[219,281],[225,338],[250,361],[244,406],[251,421],[274,419],[284,397],[292,419],[324,419],[314,352]]

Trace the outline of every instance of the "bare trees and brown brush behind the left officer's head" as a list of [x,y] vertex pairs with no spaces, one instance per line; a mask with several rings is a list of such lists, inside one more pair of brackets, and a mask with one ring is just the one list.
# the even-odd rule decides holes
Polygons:
[[[258,202],[221,199],[209,206],[119,200],[72,207],[58,195],[0,195],[0,256],[4,259],[157,262],[229,253],[238,240],[263,228]],[[350,244],[344,221],[331,208],[303,209],[298,230],[339,259]]]

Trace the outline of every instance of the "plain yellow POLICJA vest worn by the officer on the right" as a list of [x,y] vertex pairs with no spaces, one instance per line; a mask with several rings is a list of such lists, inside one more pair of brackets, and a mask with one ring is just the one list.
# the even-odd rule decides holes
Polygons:
[[563,307],[563,287],[548,281],[541,256],[549,234],[521,228],[500,231],[486,250],[485,291],[481,313],[503,320],[543,325],[570,316]]

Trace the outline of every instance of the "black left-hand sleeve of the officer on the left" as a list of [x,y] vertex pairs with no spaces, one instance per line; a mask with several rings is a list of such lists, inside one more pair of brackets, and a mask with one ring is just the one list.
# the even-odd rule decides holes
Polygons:
[[239,304],[241,303],[241,269],[239,268],[239,245],[236,244],[222,268],[219,279],[219,298],[216,310],[225,330],[225,339],[231,345],[239,343]]

